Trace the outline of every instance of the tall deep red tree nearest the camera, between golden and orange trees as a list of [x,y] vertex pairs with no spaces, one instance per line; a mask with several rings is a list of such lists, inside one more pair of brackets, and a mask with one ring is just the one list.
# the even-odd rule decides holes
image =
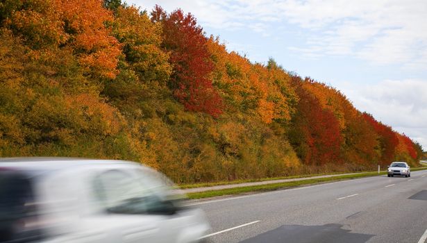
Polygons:
[[181,9],[169,15],[160,6],[151,12],[153,22],[163,26],[162,47],[170,52],[174,66],[170,86],[187,110],[206,112],[217,117],[222,112],[222,99],[210,81],[214,68],[208,51],[208,39],[196,18]]

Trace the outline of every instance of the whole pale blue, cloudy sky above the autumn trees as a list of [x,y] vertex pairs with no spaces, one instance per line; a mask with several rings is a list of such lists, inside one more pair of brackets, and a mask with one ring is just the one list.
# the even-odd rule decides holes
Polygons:
[[426,0],[126,0],[191,12],[207,36],[252,62],[342,91],[427,151]]

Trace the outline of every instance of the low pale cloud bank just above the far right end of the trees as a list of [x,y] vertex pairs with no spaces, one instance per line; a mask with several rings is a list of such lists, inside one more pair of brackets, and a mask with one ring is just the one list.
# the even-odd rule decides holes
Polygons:
[[356,108],[405,133],[427,150],[427,81],[382,81],[360,86],[347,83],[344,94]]

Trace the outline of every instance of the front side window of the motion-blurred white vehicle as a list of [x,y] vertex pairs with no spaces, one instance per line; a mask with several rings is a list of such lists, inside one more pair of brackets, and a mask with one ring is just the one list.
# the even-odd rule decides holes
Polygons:
[[176,210],[158,181],[144,181],[135,171],[110,170],[94,180],[99,203],[119,214],[171,214]]

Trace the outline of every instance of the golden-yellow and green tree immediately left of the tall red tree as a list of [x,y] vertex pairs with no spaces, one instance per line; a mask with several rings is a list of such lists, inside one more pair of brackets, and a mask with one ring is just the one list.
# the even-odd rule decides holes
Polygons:
[[115,105],[131,112],[141,101],[165,93],[171,74],[169,55],[161,47],[162,28],[134,6],[120,6],[112,33],[123,47],[119,74],[106,82],[103,94]]

